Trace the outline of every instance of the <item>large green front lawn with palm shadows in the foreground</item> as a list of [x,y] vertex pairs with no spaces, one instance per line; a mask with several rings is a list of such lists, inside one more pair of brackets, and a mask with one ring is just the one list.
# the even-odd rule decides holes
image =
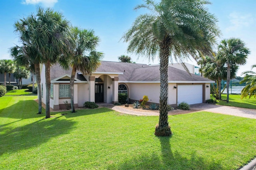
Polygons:
[[100,108],[44,119],[34,99],[0,98],[1,170],[230,170],[256,157],[256,119],[175,115],[169,117],[172,137],[155,137],[158,116]]

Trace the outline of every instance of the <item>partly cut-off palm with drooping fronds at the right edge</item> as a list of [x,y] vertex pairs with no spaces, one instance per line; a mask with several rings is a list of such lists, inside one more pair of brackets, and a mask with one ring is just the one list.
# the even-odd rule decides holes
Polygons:
[[[256,68],[256,64],[252,65],[252,69]],[[242,75],[244,75],[244,80],[240,82],[240,84],[246,82],[246,86],[241,91],[241,99],[247,97],[249,95],[250,97],[256,96],[256,72],[254,71],[245,71],[242,72]]]

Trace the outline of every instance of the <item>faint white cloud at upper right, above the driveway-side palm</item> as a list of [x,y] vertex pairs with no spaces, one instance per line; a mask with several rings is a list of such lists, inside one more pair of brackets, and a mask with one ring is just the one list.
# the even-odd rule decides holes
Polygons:
[[240,30],[244,27],[249,27],[254,22],[254,17],[251,14],[241,14],[232,12],[229,14],[230,26],[226,28],[227,32]]

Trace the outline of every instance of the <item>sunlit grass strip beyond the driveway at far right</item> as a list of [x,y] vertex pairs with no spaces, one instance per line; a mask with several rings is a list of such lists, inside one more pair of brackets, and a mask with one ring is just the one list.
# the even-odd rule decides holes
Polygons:
[[[226,100],[227,95],[222,94],[221,98],[222,100]],[[215,98],[211,95],[211,99],[215,99]],[[218,105],[256,109],[256,98],[253,98],[253,97],[250,99],[249,98],[241,99],[240,94],[230,94],[228,103],[222,100],[218,100]]]

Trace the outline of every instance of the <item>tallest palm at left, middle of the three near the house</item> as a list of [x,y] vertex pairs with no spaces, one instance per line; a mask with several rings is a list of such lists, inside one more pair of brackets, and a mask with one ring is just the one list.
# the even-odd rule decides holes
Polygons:
[[[51,8],[37,8],[36,15],[31,14],[18,24],[22,38],[28,37],[29,45],[38,51],[40,63],[45,65],[46,76],[46,118],[50,117],[50,66],[71,54],[70,23],[60,12]],[[39,88],[39,87],[38,87]]]

